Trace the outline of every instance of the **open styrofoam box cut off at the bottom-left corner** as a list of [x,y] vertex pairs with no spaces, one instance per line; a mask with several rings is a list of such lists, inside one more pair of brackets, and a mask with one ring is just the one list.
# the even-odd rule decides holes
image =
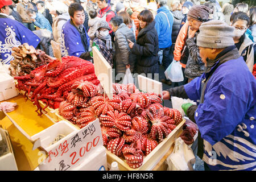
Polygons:
[[3,140],[6,143],[9,151],[9,153],[0,156],[0,171],[18,171],[18,167],[15,161],[13,147],[11,146],[9,135],[7,134],[6,130],[3,130],[1,128],[0,130],[2,134],[5,133],[1,137],[1,140]]

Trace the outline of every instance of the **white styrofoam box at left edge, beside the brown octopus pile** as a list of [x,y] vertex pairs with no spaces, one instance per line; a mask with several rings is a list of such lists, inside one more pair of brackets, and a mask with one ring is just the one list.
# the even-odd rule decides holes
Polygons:
[[18,96],[14,78],[5,72],[0,72],[0,101]]

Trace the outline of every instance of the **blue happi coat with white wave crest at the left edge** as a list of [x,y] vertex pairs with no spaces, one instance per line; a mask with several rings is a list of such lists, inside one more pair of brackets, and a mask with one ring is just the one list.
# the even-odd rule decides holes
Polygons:
[[14,59],[11,55],[13,47],[28,43],[35,48],[40,39],[22,23],[10,18],[0,18],[0,61],[2,64],[10,64]]

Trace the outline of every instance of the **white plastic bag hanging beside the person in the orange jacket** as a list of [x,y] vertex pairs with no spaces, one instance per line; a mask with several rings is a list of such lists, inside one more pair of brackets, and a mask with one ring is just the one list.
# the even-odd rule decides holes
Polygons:
[[184,80],[180,61],[172,60],[172,63],[164,72],[166,78],[170,79],[172,82],[180,82]]

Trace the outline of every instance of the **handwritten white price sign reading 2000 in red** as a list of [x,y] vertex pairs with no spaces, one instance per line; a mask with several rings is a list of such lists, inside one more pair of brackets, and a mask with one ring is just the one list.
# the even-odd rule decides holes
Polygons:
[[[101,127],[98,119],[77,131],[71,137],[52,148],[40,170],[66,171],[79,166],[86,156],[103,145]],[[87,158],[88,159],[88,158]]]

